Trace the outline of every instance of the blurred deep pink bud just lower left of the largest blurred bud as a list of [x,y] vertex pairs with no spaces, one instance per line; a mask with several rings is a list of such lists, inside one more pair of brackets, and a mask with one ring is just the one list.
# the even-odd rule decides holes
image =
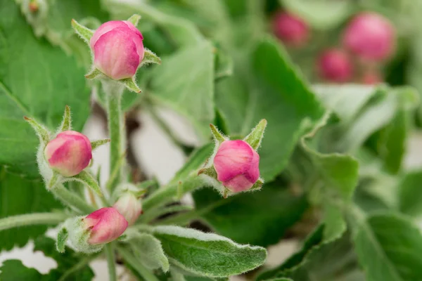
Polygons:
[[349,81],[353,74],[353,65],[347,53],[335,48],[321,54],[318,68],[321,77],[338,83]]

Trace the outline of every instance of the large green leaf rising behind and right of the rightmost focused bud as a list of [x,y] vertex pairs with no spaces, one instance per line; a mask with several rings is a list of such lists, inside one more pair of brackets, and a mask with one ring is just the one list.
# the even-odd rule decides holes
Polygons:
[[[262,178],[271,181],[286,166],[303,133],[304,122],[311,126],[322,117],[324,110],[278,41],[262,41],[252,53],[252,65],[257,89],[250,89],[243,129],[250,130],[261,119],[267,119],[260,149],[260,171]],[[231,119],[230,115],[227,117]]]

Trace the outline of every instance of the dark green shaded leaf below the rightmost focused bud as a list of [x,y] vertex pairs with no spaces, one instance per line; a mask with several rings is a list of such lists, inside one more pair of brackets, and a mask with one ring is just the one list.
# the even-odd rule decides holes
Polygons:
[[203,188],[193,193],[193,199],[198,214],[217,233],[238,243],[263,247],[279,242],[308,207],[305,196],[292,195],[278,183],[226,199]]

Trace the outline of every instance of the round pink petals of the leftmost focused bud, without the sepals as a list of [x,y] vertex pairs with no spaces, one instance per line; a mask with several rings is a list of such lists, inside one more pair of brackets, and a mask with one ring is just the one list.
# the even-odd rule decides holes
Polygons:
[[91,152],[87,136],[77,131],[64,131],[46,145],[44,157],[54,171],[63,176],[75,176],[87,168]]

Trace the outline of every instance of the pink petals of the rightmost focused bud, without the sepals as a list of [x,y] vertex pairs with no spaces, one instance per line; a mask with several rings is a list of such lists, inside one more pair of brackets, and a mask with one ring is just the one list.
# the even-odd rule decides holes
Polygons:
[[245,141],[223,141],[214,157],[217,180],[231,190],[252,188],[260,177],[260,155]]

